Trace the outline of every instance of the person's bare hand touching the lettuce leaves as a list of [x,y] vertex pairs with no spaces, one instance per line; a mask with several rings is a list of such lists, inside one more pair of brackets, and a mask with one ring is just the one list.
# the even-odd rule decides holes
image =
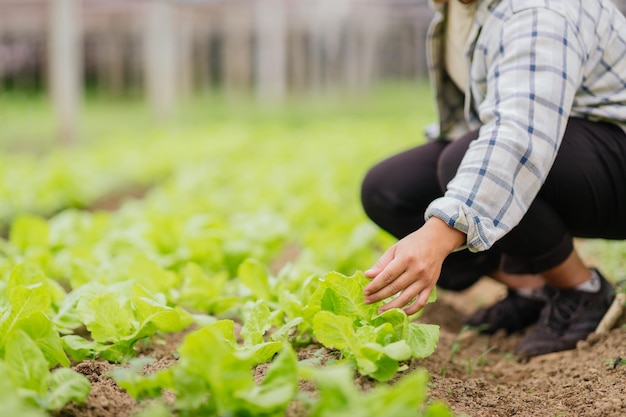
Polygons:
[[466,240],[464,233],[432,217],[424,226],[390,247],[376,264],[365,271],[372,278],[363,293],[365,303],[395,299],[380,308],[403,308],[406,314],[421,310],[437,284],[441,265]]

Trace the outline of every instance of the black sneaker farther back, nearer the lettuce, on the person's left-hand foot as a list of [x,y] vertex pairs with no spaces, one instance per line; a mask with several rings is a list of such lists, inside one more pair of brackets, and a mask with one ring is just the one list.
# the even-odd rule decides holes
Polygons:
[[504,299],[476,311],[465,320],[465,324],[481,333],[494,334],[500,329],[513,333],[539,320],[544,305],[545,300],[522,297],[515,290],[509,289]]

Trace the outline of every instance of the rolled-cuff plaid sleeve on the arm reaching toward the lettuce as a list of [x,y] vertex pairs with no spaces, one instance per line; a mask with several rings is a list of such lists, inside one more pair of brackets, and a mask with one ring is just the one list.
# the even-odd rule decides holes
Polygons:
[[[487,22],[489,24],[489,22]],[[485,34],[487,28],[483,28]],[[471,251],[489,249],[522,219],[554,162],[585,54],[567,19],[520,10],[490,31],[482,123],[455,178],[425,213],[467,234]]]

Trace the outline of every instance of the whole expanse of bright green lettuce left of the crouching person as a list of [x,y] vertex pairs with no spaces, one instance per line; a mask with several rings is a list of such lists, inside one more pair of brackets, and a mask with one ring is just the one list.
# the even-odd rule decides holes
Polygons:
[[[89,381],[71,364],[102,359],[124,365],[110,376],[129,394],[157,399],[145,415],[450,415],[427,400],[428,375],[408,372],[433,352],[438,328],[362,300],[359,271],[390,240],[361,213],[358,186],[372,155],[390,152],[372,139],[393,129],[186,132],[3,165],[14,177],[0,193],[10,225],[0,240],[0,414],[84,401]],[[155,183],[115,212],[62,210]],[[139,341],[190,329],[173,366],[144,374]],[[339,359],[300,360],[310,343]],[[260,381],[257,366],[267,367]],[[380,383],[363,393],[356,374]]]

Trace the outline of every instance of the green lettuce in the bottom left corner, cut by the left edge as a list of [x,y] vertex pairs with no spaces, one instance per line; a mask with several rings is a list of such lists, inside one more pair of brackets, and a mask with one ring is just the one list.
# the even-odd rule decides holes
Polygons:
[[[0,298],[0,374],[10,381],[3,384],[25,404],[47,410],[84,401],[91,389],[87,378],[67,368],[69,359],[49,317],[54,289],[39,268],[24,263],[12,269]],[[4,407],[26,406],[13,399]],[[36,415],[28,407],[25,412]]]

